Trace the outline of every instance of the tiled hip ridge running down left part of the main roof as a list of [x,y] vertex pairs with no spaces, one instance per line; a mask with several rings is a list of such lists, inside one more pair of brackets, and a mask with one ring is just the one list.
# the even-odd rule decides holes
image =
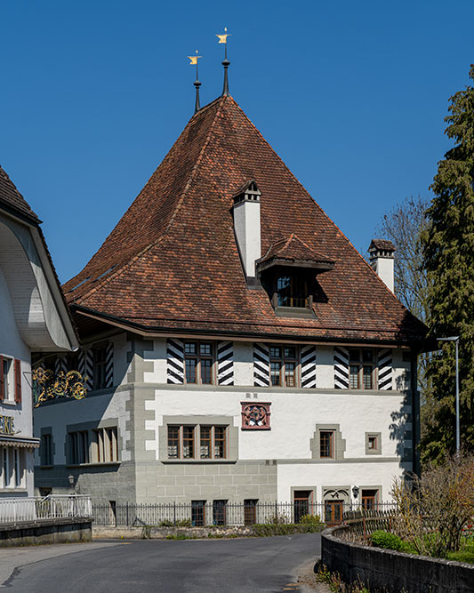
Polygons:
[[[189,119],[188,124],[192,121],[192,119],[195,116],[197,116],[200,113],[202,113],[203,109],[209,108],[211,105],[213,105],[213,103],[215,103],[216,101],[219,101],[219,100],[222,100],[221,102],[223,103],[226,99],[227,99],[227,97],[218,97],[217,99],[214,99],[211,103],[208,103],[204,108],[200,109],[197,112],[197,114],[195,114],[194,116],[192,116]],[[141,250],[141,252],[135,253],[135,255],[133,256],[133,258],[131,260],[125,261],[125,264],[123,266],[121,266],[120,268],[117,268],[115,272],[113,272],[112,274],[108,274],[108,276],[105,277],[104,280],[102,282],[100,282],[100,284],[97,284],[96,286],[93,286],[90,291],[85,292],[82,296],[80,296],[78,298],[78,301],[81,301],[81,302],[87,301],[87,299],[89,299],[92,296],[92,294],[94,294],[94,292],[97,292],[102,286],[104,286],[105,284],[107,284],[108,282],[110,282],[111,280],[113,280],[114,278],[116,278],[117,276],[119,276],[119,273],[125,272],[126,269],[131,268],[138,260],[141,259],[141,257],[146,252],[149,252],[149,250],[152,247],[154,247],[155,245],[157,245],[158,243],[160,243],[162,240],[165,239],[165,236],[169,232],[170,228],[172,228],[172,226],[173,226],[173,222],[174,222],[174,220],[176,218],[177,213],[181,209],[181,205],[184,202],[184,198],[186,196],[186,193],[189,190],[189,186],[191,184],[191,181],[193,180],[193,178],[195,176],[195,173],[197,172],[197,168],[198,168],[198,165],[200,164],[200,162],[202,160],[202,156],[203,156],[203,153],[205,151],[205,148],[209,144],[209,140],[211,139],[211,133],[213,131],[214,124],[215,124],[215,122],[217,120],[217,117],[220,115],[220,113],[221,113],[221,105],[217,108],[217,110],[215,112],[215,115],[213,116],[213,121],[212,121],[211,125],[209,126],[209,131],[207,132],[207,134],[205,136],[205,141],[203,142],[203,146],[199,150],[199,154],[197,155],[196,164],[193,166],[191,172],[189,173],[189,179],[188,179],[188,181],[187,181],[184,189],[182,190],[181,196],[180,196],[180,198],[177,201],[176,207],[174,208],[174,212],[173,212],[172,216],[170,217],[170,220],[169,220],[168,224],[166,225],[166,228],[161,233],[161,235],[157,237],[157,240],[156,241],[153,241],[152,243],[146,245],[146,247],[144,247]],[[184,130],[181,132],[180,137],[185,132],[186,128],[188,127],[188,124],[185,126]],[[176,141],[178,141],[178,140],[176,140]],[[170,149],[170,151],[171,151],[171,149]],[[161,166],[161,164],[160,164],[160,166]],[[151,175],[151,177],[153,177],[154,174],[155,174],[155,172],[153,172],[153,174]],[[151,179],[151,177],[149,179]],[[147,183],[148,183],[148,181],[147,181]],[[132,204],[129,206],[129,208],[130,207],[132,207]],[[83,270],[81,270],[81,271],[83,271]],[[76,301],[74,301],[74,302],[76,302]]]

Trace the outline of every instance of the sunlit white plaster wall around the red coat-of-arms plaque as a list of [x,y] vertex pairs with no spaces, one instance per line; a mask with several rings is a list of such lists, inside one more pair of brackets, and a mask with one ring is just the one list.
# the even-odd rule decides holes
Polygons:
[[[309,439],[314,437],[317,424],[339,424],[346,439],[347,459],[366,456],[366,432],[382,433],[382,457],[398,458],[397,446],[405,429],[408,407],[398,393],[361,396],[349,392],[289,393],[276,390],[221,391],[218,389],[156,389],[154,400],[146,402],[147,410],[156,417],[146,422],[146,429],[155,431],[147,449],[159,452],[158,427],[163,415],[225,415],[234,426],[241,426],[241,402],[270,402],[271,430],[240,430],[239,459],[310,459]],[[397,423],[398,422],[398,423]]]

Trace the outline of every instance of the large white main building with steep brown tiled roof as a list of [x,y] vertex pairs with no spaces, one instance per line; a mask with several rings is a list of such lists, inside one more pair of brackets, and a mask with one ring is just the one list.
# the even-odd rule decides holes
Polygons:
[[416,469],[425,327],[228,93],[63,289],[90,393],[37,411],[56,451],[39,487],[334,518]]

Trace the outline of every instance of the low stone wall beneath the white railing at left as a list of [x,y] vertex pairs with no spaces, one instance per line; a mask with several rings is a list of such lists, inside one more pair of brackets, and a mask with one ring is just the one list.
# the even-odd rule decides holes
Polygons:
[[92,518],[56,518],[0,524],[0,548],[92,541]]

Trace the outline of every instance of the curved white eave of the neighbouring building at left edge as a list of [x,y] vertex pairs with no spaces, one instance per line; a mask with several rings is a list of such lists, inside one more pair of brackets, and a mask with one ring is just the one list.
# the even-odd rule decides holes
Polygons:
[[0,212],[0,266],[20,335],[30,349],[78,347],[60,285],[39,229]]

